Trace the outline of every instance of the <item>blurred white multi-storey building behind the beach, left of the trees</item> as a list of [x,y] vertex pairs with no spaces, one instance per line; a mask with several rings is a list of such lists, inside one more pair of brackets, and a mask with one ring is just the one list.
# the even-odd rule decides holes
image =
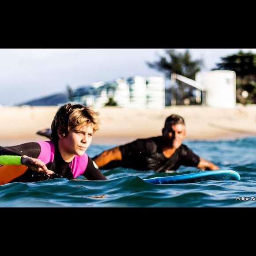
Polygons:
[[112,82],[97,82],[75,90],[74,101],[101,108],[109,102],[127,108],[164,108],[165,79],[163,77],[133,76]]

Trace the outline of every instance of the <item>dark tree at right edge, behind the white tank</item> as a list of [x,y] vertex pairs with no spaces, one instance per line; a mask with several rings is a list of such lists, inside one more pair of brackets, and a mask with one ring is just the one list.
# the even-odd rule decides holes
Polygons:
[[[231,70],[237,75],[237,102],[256,103],[256,54],[239,51],[221,58],[213,70]],[[249,97],[243,98],[242,92],[248,91]]]

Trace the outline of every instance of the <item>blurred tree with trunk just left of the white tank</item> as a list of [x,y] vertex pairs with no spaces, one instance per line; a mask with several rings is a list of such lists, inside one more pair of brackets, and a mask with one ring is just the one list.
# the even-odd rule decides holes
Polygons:
[[[203,60],[192,60],[189,50],[184,53],[177,53],[174,49],[165,49],[166,56],[160,56],[158,61],[147,62],[150,68],[163,72],[167,79],[171,79],[172,73],[195,79],[196,73],[201,70]],[[179,103],[183,105],[185,98],[184,89],[187,86],[180,81],[177,82],[180,91]]]

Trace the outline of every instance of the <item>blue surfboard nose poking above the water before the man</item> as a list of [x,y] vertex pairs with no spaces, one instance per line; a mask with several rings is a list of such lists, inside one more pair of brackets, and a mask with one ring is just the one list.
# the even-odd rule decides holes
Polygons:
[[181,184],[181,183],[196,183],[200,181],[226,181],[240,180],[239,173],[232,170],[207,171],[200,173],[190,173],[169,177],[155,177],[152,179],[144,179],[152,184]]

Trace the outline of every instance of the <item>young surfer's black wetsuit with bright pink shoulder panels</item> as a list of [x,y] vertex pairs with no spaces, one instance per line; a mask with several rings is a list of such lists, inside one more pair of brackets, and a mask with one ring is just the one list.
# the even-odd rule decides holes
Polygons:
[[[40,159],[49,170],[69,179],[83,175],[90,181],[106,180],[106,177],[98,169],[98,166],[86,153],[81,157],[75,155],[72,162],[67,163],[63,160],[58,146],[52,141],[25,143],[13,147],[0,147],[0,155],[27,155],[32,158]],[[53,175],[51,177],[55,176]],[[47,179],[49,179],[48,175],[27,169],[23,175],[15,178],[11,182],[34,182]]]

